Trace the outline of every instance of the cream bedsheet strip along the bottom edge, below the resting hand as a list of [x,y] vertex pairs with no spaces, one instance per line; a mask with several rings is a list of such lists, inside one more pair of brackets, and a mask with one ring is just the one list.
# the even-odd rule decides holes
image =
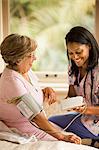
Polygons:
[[76,145],[63,141],[37,141],[28,144],[14,144],[0,141],[0,150],[98,150],[85,145]]

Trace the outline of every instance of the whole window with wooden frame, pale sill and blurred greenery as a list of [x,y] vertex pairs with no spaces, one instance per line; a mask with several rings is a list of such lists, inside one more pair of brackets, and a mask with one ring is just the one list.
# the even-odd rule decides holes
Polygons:
[[[64,47],[65,34],[76,25],[85,26],[95,33],[96,26],[99,39],[98,12],[98,0],[2,0],[0,1],[0,41],[9,32],[35,38],[39,46],[33,70],[38,71],[41,83],[51,81],[54,84],[50,85],[58,87],[57,91],[65,93],[66,96],[68,61]],[[2,63],[0,72],[4,64],[1,60],[0,58]],[[42,84],[42,87],[44,86]]]

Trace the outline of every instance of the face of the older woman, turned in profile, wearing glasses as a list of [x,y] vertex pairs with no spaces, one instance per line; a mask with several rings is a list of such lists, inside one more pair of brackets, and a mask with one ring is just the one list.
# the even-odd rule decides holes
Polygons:
[[18,71],[20,73],[26,73],[32,67],[33,61],[36,60],[35,51],[28,53],[22,60],[17,63]]

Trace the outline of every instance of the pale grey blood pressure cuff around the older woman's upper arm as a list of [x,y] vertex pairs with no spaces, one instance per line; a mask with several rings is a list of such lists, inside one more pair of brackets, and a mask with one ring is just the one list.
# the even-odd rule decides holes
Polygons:
[[43,107],[36,102],[36,100],[30,93],[24,94],[23,96],[18,98],[16,105],[21,114],[29,120],[32,120],[43,110]]

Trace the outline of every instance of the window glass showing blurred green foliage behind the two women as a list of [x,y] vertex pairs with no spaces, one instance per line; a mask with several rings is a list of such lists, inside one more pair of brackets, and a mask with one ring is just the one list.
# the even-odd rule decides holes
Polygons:
[[36,71],[66,71],[64,37],[76,25],[94,33],[95,0],[10,0],[10,32],[38,42]]

